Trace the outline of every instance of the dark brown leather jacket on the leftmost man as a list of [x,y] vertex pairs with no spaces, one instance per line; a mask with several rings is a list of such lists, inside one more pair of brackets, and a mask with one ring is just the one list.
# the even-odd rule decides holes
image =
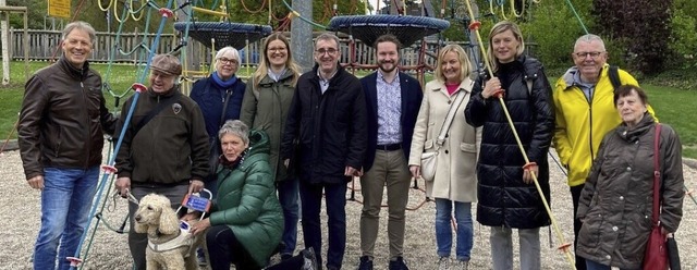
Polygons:
[[75,69],[65,58],[26,82],[17,142],[26,179],[44,168],[87,169],[101,163],[103,133],[112,134],[101,77],[85,62]]

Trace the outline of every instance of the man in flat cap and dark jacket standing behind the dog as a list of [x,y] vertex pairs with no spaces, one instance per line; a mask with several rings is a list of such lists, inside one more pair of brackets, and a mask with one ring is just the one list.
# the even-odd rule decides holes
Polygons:
[[[186,194],[204,188],[208,173],[208,133],[204,115],[194,100],[179,90],[182,65],[170,54],[157,54],[150,64],[147,91],[137,103],[126,100],[121,115],[135,106],[119,154],[115,188],[122,197],[131,193],[140,200],[147,194],[167,196],[176,209]],[[137,205],[129,205],[131,228]],[[145,270],[145,233],[129,232],[134,269]]]

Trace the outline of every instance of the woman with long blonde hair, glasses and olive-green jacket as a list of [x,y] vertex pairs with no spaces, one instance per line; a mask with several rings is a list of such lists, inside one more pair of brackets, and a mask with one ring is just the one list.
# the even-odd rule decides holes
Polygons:
[[299,75],[301,69],[293,61],[290,44],[283,33],[271,34],[264,42],[259,68],[247,81],[240,116],[253,130],[264,131],[269,135],[271,175],[276,180],[285,218],[280,248],[282,259],[293,256],[297,241],[298,182],[292,170],[281,163],[279,151]]

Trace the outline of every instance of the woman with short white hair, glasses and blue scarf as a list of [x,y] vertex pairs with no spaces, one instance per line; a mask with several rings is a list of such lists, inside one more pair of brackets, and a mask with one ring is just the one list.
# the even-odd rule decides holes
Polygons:
[[[216,71],[210,76],[194,83],[189,95],[204,112],[206,131],[210,142],[211,160],[218,161],[220,143],[218,131],[228,120],[240,119],[245,83],[235,76],[240,68],[240,52],[235,48],[224,47],[215,59]],[[224,115],[223,115],[224,113]],[[211,172],[215,172],[211,170]],[[206,188],[216,194],[216,177],[211,173],[206,179]]]

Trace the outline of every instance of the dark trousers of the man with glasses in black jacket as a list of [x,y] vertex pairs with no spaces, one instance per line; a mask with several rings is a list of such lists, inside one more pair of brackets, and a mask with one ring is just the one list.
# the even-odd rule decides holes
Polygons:
[[319,213],[323,192],[329,229],[327,268],[341,269],[346,249],[346,184],[309,184],[301,180],[299,187],[305,247],[315,249],[317,265],[321,266],[322,230]]

